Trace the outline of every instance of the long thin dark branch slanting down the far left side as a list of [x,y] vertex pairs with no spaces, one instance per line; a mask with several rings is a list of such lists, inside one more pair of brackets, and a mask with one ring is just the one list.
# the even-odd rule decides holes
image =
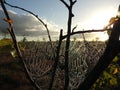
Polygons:
[[[7,9],[6,9],[3,1],[4,1],[4,0],[0,0],[1,6],[2,6],[2,9],[3,9],[4,13],[5,13],[5,16],[6,16],[7,20],[9,21],[9,20],[11,20],[11,19],[10,19],[10,17],[9,17],[9,14],[8,14],[8,12],[7,12]],[[17,52],[17,54],[18,54],[19,59],[22,60],[22,65],[23,65],[23,67],[24,67],[24,69],[25,69],[25,72],[26,72],[26,74],[27,74],[27,76],[28,76],[28,79],[30,80],[31,84],[32,84],[37,90],[40,90],[40,87],[38,86],[38,84],[36,84],[36,83],[34,82],[34,80],[32,79],[32,77],[30,76],[29,71],[28,71],[28,69],[27,69],[27,66],[26,66],[26,64],[25,64],[25,62],[24,62],[24,60],[23,60],[23,58],[22,58],[22,54],[21,54],[21,52],[20,52],[20,49],[19,49],[19,46],[18,46],[16,37],[15,37],[14,28],[13,28],[13,23],[8,22],[8,24],[9,24],[9,29],[8,29],[8,30],[9,30],[10,35],[11,35],[11,37],[12,37],[12,40],[13,40],[13,43],[14,43],[14,47],[15,47],[15,49],[16,49],[16,52]]]

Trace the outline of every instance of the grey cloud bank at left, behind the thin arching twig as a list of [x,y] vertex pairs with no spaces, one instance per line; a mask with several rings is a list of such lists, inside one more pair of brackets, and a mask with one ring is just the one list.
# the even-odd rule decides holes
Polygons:
[[[34,16],[30,14],[19,15],[16,12],[11,10],[9,10],[9,15],[14,21],[13,26],[14,26],[16,35],[18,36],[47,35],[47,31],[44,28],[44,26]],[[0,9],[0,33],[6,30],[6,28],[8,28],[8,24],[5,21],[3,21],[3,18],[5,18],[5,15],[3,11]],[[43,21],[45,21],[45,23],[47,24],[51,35],[58,35],[58,32],[59,32],[58,25],[56,25],[55,23],[49,22],[46,19],[44,19]]]

